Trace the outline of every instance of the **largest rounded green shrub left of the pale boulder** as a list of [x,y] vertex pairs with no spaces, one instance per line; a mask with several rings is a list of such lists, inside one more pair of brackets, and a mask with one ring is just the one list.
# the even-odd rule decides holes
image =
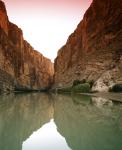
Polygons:
[[89,83],[78,84],[72,88],[72,91],[76,93],[80,93],[80,92],[89,93],[91,91],[90,84]]

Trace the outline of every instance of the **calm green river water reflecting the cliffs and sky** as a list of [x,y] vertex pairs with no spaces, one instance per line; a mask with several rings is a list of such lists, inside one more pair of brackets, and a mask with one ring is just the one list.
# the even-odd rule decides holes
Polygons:
[[0,96],[0,150],[122,150],[122,104],[81,95]]

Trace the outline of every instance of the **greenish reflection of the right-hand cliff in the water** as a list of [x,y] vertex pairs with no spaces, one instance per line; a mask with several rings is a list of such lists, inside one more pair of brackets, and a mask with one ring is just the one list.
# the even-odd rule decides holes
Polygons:
[[122,105],[97,107],[90,104],[89,97],[86,97],[87,102],[84,98],[55,97],[54,121],[60,134],[72,150],[120,150]]

